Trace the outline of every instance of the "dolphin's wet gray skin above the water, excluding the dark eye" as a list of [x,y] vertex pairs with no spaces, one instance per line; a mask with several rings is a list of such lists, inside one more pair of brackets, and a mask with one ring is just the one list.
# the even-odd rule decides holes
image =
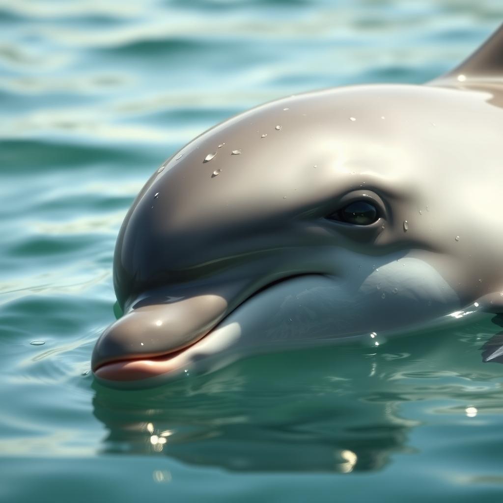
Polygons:
[[[125,315],[96,344],[95,376],[148,385],[500,312],[502,99],[503,27],[427,85],[292,96],[191,141],[120,229]],[[327,218],[355,201],[377,220]]]

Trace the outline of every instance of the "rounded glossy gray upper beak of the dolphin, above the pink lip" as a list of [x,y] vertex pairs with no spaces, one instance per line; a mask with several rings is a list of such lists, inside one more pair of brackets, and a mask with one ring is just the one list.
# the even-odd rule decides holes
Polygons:
[[227,301],[215,294],[132,309],[101,335],[93,351],[93,372],[108,364],[169,355],[191,346],[226,310]]

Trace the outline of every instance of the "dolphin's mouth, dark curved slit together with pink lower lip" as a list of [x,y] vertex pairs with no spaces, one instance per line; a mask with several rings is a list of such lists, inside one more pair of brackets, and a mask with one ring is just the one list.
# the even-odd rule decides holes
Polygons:
[[234,312],[238,307],[245,304],[251,298],[260,295],[262,292],[269,290],[270,288],[298,277],[302,276],[321,276],[322,273],[299,273],[286,276],[284,278],[272,281],[259,289],[255,290],[251,295],[248,295],[241,302],[236,303],[231,309],[226,310],[223,316],[211,326],[205,333],[196,337],[193,341],[189,342],[186,346],[182,348],[176,348],[165,353],[156,355],[145,355],[145,356],[130,356],[124,355],[124,357],[117,357],[112,360],[103,362],[93,362],[93,374],[100,380],[111,381],[111,382],[133,382],[142,381],[145,379],[150,379],[164,374],[173,374],[175,371],[183,372],[183,367],[189,363],[185,358],[186,353],[190,350],[195,349],[200,343],[203,343],[205,339],[212,334],[221,324],[227,316]]

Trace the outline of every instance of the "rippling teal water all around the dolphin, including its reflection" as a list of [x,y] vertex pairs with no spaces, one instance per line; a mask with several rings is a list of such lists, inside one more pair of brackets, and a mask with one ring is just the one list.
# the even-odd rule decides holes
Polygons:
[[165,158],[277,97],[426,81],[502,17],[491,0],[0,1],[0,500],[501,501],[489,315],[150,390],[89,370],[119,225]]

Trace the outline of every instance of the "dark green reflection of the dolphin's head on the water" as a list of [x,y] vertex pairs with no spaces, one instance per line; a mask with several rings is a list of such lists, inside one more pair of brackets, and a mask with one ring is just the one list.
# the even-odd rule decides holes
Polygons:
[[378,470],[409,450],[415,423],[396,415],[392,393],[381,395],[372,351],[339,349],[261,355],[151,392],[98,387],[104,450],[232,471]]

